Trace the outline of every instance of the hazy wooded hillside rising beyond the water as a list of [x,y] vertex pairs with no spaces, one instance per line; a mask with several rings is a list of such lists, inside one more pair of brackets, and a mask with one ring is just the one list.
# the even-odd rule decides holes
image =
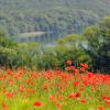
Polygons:
[[29,32],[79,33],[110,15],[110,0],[0,0],[0,28],[15,36]]

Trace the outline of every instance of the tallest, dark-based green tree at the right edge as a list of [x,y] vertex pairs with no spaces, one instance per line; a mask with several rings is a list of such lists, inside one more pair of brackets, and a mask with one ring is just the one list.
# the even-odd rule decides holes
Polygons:
[[86,29],[84,36],[88,41],[85,51],[92,58],[94,69],[110,73],[110,16]]

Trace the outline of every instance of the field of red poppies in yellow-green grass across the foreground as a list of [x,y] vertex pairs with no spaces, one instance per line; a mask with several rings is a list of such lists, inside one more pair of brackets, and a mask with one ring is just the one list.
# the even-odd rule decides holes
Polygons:
[[110,110],[110,75],[65,70],[0,69],[0,110]]

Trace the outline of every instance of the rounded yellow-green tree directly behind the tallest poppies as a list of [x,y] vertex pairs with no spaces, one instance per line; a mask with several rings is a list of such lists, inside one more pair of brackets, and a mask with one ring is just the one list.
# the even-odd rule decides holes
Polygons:
[[55,46],[55,52],[58,61],[65,67],[65,61],[72,59],[74,65],[79,66],[80,63],[91,62],[89,55],[85,53],[82,47],[86,44],[85,37],[77,34],[72,34],[61,38]]

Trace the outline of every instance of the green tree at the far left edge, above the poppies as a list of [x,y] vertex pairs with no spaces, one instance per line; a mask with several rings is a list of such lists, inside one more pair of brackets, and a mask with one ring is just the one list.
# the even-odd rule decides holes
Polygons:
[[2,31],[0,31],[0,66],[12,67],[18,54],[15,47],[16,43],[11,41]]

